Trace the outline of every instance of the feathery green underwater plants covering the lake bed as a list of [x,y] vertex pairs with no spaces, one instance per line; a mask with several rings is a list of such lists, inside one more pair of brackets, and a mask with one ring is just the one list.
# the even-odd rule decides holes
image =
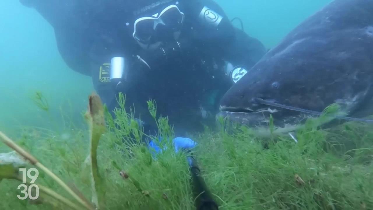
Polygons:
[[[34,102],[48,112],[41,96]],[[0,209],[195,209],[188,154],[166,149],[153,158],[140,143],[145,133],[134,120],[135,110],[125,109],[124,95],[118,102],[112,118],[91,95],[87,129],[66,127],[68,136],[28,128],[13,141],[0,133]],[[173,139],[167,117],[157,115],[155,101],[147,103],[159,136]],[[194,134],[194,155],[219,209],[373,209],[373,126],[347,122],[321,128],[334,112],[338,106],[331,105],[319,118],[308,119],[294,133],[297,141],[274,135],[273,120],[266,139],[223,118],[216,129]],[[19,167],[38,169],[38,199],[17,198]]]

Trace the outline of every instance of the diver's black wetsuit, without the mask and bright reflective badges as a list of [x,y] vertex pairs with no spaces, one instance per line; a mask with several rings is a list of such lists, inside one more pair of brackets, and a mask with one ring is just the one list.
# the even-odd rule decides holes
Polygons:
[[[183,135],[202,128],[200,108],[218,111],[220,97],[232,85],[223,69],[224,61],[250,69],[266,52],[263,44],[233,27],[223,9],[212,0],[179,0],[184,4],[185,22],[180,49],[167,58],[144,52],[131,36],[134,11],[126,0],[20,0],[34,7],[53,26],[59,52],[74,71],[89,75],[110,110],[117,105],[119,91],[126,95],[126,105],[135,106],[135,117],[154,129],[147,100],[157,102],[157,114],[169,117],[175,134]],[[127,3],[128,4],[128,3]],[[223,16],[217,28],[201,23],[203,7]],[[132,30],[132,31],[131,31]],[[169,43],[176,46],[175,43]],[[167,46],[166,46],[167,47]],[[151,69],[137,59],[141,55]],[[115,89],[109,80],[110,59],[129,59],[128,80]],[[129,109],[128,109],[129,111]]]

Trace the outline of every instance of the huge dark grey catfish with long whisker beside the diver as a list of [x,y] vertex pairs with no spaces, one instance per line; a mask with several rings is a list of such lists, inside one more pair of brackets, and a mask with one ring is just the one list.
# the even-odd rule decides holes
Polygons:
[[339,103],[373,114],[373,0],[334,0],[307,18],[226,92],[217,116],[248,126],[294,126],[310,117],[255,98],[313,111]]

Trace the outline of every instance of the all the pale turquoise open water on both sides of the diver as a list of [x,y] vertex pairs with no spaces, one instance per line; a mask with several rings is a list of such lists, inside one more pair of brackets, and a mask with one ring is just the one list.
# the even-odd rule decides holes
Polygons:
[[[330,0],[217,2],[230,19],[241,18],[245,31],[270,48]],[[81,123],[80,113],[94,90],[90,77],[66,66],[53,28],[35,10],[23,7],[18,0],[1,0],[0,8],[0,130],[16,133],[19,126],[62,127],[60,108]],[[48,99],[50,116],[29,99],[38,90]]]

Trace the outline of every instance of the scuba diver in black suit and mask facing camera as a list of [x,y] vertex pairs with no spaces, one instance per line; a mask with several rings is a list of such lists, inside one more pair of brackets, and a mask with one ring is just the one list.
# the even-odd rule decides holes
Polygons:
[[175,136],[201,131],[215,121],[220,98],[266,53],[213,0],[20,1],[51,24],[66,64],[92,78],[110,112],[125,94],[147,134],[157,130],[151,99]]

